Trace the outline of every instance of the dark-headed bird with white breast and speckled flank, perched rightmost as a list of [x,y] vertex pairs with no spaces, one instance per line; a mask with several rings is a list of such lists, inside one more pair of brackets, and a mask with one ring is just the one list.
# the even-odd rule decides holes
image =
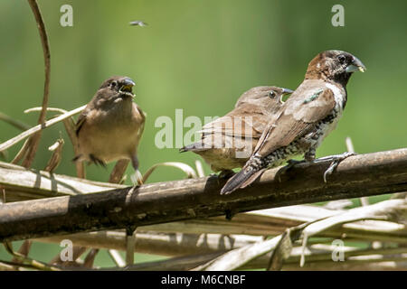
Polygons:
[[[304,81],[281,107],[275,121],[261,135],[249,161],[226,182],[221,194],[248,186],[267,168],[276,167],[295,155],[304,154],[306,162],[314,162],[317,147],[335,129],[342,115],[347,99],[346,84],[357,70],[364,72],[364,64],[345,51],[323,51],[310,61]],[[337,165],[338,160],[348,155],[332,159]],[[332,168],[327,170],[332,171]]]

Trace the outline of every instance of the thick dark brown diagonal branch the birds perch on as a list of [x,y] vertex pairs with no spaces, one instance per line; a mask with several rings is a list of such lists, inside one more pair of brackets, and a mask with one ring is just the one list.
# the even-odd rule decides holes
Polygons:
[[[272,169],[260,181],[228,196],[219,194],[224,181],[212,176],[5,203],[0,206],[0,240],[232,216],[248,210],[407,191],[407,149],[351,156],[325,183],[322,175],[327,166],[329,162],[296,165],[281,175],[281,182],[276,177],[279,168]],[[44,173],[37,177],[37,187],[43,180],[49,182]],[[6,179],[13,178],[11,174]],[[21,180],[21,175],[18,178]],[[54,191],[57,188],[54,185]]]

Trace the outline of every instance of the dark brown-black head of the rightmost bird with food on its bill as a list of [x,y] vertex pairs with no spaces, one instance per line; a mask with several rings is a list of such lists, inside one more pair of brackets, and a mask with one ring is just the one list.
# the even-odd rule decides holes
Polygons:
[[306,79],[328,79],[346,85],[355,71],[366,70],[362,61],[345,51],[323,51],[308,64]]

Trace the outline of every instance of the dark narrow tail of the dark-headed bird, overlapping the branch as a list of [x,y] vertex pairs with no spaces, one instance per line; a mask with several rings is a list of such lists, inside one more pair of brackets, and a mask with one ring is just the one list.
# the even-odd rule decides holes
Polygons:
[[241,169],[229,179],[222,188],[221,194],[230,194],[232,191],[242,189],[256,181],[258,177],[266,170],[260,163],[249,160]]

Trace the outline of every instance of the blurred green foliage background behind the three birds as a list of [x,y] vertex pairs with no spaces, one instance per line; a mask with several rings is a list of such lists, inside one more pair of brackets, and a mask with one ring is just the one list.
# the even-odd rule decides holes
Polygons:
[[[73,7],[73,27],[60,25],[64,4]],[[331,24],[336,4],[345,7],[345,27]],[[174,119],[175,109],[183,108],[184,117],[204,120],[224,115],[251,87],[296,89],[308,61],[329,49],[355,54],[367,72],[350,80],[344,116],[317,156],[344,152],[346,136],[352,137],[357,153],[407,144],[406,1],[40,0],[39,5],[51,46],[49,106],[80,107],[112,75],[135,79],[136,102],[147,112],[139,147],[141,172],[154,163],[194,165],[200,159],[179,154],[177,148],[156,148],[156,117]],[[3,0],[0,19],[0,112],[33,126],[38,114],[23,113],[41,106],[43,98],[43,51],[33,14],[26,1]],[[149,25],[130,26],[134,20]],[[0,132],[0,142],[19,133],[4,122]],[[56,172],[75,175],[62,124],[43,132],[33,167],[43,169],[50,157],[47,147],[60,132],[66,144]],[[8,150],[6,161],[20,146]],[[89,166],[88,178],[107,181],[112,167]],[[159,168],[149,182],[184,177],[183,172]],[[51,247],[36,246],[33,253],[43,252],[41,259],[49,259],[43,249]],[[99,265],[106,264],[113,266],[109,258],[100,257]]]

